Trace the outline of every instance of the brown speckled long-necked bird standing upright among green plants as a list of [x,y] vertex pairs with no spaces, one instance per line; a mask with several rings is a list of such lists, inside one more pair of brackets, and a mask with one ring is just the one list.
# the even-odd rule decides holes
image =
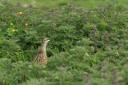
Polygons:
[[37,56],[35,57],[35,60],[34,60],[38,64],[47,64],[48,62],[46,48],[49,41],[50,40],[48,38],[44,38],[41,46],[38,49]]

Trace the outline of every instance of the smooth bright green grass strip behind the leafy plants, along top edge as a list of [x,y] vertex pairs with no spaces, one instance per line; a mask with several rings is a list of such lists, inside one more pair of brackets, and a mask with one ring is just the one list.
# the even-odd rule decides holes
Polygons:
[[127,0],[10,0],[11,3],[33,3],[36,2],[35,4],[39,7],[55,7],[58,5],[64,5],[64,4],[75,4],[78,6],[82,7],[87,7],[87,8],[95,8],[97,6],[104,6],[108,2],[118,2],[119,4],[122,5],[127,5],[128,1]]

